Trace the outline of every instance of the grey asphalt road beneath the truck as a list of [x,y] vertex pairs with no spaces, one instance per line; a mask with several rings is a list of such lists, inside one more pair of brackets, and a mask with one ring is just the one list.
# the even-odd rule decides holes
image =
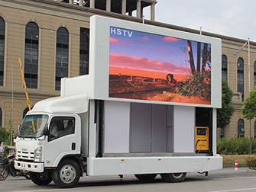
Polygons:
[[47,186],[37,186],[25,178],[8,177],[0,181],[0,192],[41,192],[41,191],[190,191],[190,192],[231,192],[231,191],[256,191],[256,172],[248,171],[248,168],[224,168],[219,171],[211,171],[208,176],[204,174],[188,173],[185,181],[181,183],[166,183],[160,176],[153,182],[138,181],[133,175],[125,175],[122,181],[115,177],[85,177],[79,184],[70,189],[59,189],[53,182]]

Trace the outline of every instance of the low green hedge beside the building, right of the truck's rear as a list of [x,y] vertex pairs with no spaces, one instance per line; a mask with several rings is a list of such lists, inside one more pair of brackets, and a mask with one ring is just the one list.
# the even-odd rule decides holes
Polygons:
[[[256,139],[251,138],[252,153],[256,154]],[[221,155],[249,155],[250,141],[248,137],[233,136],[231,139],[222,138],[217,143],[217,152]]]

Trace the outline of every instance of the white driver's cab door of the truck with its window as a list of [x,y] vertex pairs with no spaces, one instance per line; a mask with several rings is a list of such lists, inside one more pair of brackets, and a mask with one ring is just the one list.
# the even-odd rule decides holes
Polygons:
[[55,167],[65,155],[80,152],[79,117],[52,117],[48,126],[48,137],[45,146],[45,167]]

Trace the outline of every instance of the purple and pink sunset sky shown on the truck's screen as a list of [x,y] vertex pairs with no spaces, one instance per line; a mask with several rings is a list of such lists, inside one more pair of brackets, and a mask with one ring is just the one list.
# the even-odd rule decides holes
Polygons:
[[[191,46],[196,63],[197,43],[192,41]],[[209,50],[211,45],[207,46]],[[201,43],[201,51],[203,47]],[[109,66],[189,75],[187,50],[187,40],[110,27]]]

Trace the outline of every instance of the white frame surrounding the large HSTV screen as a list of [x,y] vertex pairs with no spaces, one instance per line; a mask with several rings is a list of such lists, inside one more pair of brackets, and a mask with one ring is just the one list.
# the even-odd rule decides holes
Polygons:
[[[109,39],[110,27],[137,30],[147,34],[158,34],[211,44],[211,104],[190,104],[167,101],[148,101],[128,98],[109,98]],[[214,37],[171,30],[131,21],[105,18],[94,15],[90,18],[89,75],[92,76],[93,98],[108,101],[140,102],[151,104],[168,104],[190,107],[222,107],[222,72],[221,53],[222,41]]]

